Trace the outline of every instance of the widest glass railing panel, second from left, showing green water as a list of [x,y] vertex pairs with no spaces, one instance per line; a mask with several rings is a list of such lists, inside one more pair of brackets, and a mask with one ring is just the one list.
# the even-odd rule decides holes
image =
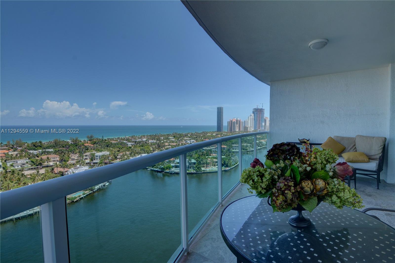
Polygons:
[[167,262],[178,254],[177,159],[69,195],[70,261]]

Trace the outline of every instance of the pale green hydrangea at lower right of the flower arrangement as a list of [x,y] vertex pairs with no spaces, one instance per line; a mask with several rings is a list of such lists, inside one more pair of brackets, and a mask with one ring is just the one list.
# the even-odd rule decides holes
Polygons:
[[351,189],[346,183],[337,178],[329,178],[327,180],[328,193],[325,195],[324,202],[329,205],[342,209],[343,206],[351,208],[362,208],[361,195]]

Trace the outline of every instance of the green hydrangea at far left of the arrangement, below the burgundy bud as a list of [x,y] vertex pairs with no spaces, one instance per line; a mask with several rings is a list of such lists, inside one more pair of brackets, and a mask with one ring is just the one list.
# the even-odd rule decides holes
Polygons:
[[271,180],[275,173],[272,169],[259,166],[255,168],[248,167],[241,174],[240,182],[250,186],[250,188],[247,188],[249,193],[253,193],[252,190],[257,194],[265,193],[272,188]]

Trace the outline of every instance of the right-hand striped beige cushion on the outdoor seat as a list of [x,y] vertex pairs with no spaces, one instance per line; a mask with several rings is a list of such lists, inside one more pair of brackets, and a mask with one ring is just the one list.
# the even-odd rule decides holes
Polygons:
[[357,135],[355,136],[355,147],[357,147],[358,152],[366,154],[370,160],[378,161],[386,140],[386,137]]

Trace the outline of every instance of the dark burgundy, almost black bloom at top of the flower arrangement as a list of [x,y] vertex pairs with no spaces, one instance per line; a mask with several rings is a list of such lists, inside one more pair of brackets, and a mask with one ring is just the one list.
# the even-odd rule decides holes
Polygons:
[[271,161],[294,161],[301,158],[300,148],[294,143],[276,143],[267,151],[266,159]]

